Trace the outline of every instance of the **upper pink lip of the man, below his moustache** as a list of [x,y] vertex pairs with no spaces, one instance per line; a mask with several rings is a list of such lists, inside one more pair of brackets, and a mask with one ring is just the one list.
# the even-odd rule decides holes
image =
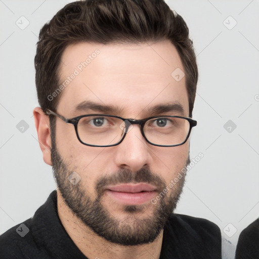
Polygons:
[[127,193],[138,193],[138,192],[153,192],[156,188],[153,185],[149,184],[123,184],[108,186],[108,190],[114,192],[127,192]]

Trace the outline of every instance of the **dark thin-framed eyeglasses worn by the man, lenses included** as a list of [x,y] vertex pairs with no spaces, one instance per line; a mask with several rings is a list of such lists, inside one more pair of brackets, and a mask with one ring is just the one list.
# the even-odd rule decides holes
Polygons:
[[151,145],[175,147],[186,143],[197,121],[182,116],[153,116],[146,119],[124,119],[107,114],[87,114],[67,119],[47,109],[47,114],[74,125],[78,140],[91,147],[119,145],[133,124],[141,126],[144,139]]

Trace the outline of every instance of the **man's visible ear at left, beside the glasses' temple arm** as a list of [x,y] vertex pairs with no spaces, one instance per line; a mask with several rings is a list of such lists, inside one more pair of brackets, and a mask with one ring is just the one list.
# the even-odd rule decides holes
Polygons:
[[49,116],[40,107],[33,110],[34,123],[38,134],[39,147],[46,164],[52,165],[51,161],[51,131]]

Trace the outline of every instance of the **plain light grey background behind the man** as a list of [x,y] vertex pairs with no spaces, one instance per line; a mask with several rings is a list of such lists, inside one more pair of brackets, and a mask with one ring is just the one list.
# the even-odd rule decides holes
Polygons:
[[[32,117],[34,56],[40,27],[69,2],[0,1],[0,234],[30,218],[56,188]],[[234,246],[259,216],[259,1],[166,2],[185,19],[194,42],[198,126],[190,155],[204,154],[188,173],[177,212],[216,223]],[[23,133],[21,120],[29,126]],[[230,133],[228,120],[237,126],[225,126]]]

